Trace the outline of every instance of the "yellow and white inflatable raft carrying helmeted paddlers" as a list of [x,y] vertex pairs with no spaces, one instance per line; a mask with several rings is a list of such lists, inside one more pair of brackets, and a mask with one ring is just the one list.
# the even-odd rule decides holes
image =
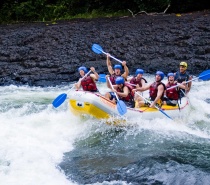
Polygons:
[[[110,117],[120,116],[117,106],[102,95],[85,91],[71,91],[68,95],[70,110],[76,115],[90,115],[97,119],[108,119]],[[169,117],[175,118],[184,115],[189,110],[189,100],[184,97],[179,101],[179,105],[163,105],[161,110]],[[141,107],[128,108],[126,119],[154,119],[163,118],[164,114],[156,108]]]

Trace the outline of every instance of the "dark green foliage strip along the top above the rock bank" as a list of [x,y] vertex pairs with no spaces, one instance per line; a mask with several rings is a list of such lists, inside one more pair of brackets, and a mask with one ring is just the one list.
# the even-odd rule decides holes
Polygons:
[[209,7],[206,0],[1,0],[0,23],[122,16],[129,14],[128,9],[163,12],[169,4],[167,12]]

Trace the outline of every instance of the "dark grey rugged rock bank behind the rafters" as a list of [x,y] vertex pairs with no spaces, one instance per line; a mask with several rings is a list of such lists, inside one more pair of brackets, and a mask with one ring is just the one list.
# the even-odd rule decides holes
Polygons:
[[78,80],[81,65],[107,73],[93,43],[125,60],[131,75],[175,72],[183,60],[198,75],[210,68],[210,11],[0,25],[0,85],[61,85]]

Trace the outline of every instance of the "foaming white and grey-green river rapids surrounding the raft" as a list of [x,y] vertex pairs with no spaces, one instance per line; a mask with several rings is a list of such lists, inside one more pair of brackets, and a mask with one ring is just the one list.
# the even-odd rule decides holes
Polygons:
[[210,184],[210,81],[193,82],[186,117],[125,127],[53,108],[70,87],[0,87],[1,185]]

